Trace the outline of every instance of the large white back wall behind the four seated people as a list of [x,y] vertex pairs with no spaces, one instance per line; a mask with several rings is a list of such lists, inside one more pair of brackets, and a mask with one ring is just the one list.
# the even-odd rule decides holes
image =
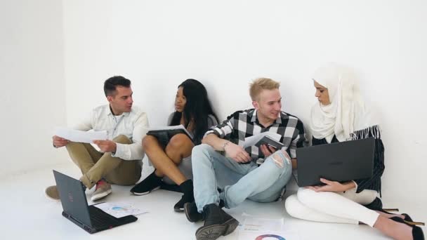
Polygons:
[[173,110],[176,86],[202,81],[221,119],[250,107],[249,81],[282,82],[283,109],[308,122],[310,75],[325,62],[354,67],[382,118],[383,197],[427,201],[426,1],[64,2],[67,119],[105,102],[122,74],[152,125]]

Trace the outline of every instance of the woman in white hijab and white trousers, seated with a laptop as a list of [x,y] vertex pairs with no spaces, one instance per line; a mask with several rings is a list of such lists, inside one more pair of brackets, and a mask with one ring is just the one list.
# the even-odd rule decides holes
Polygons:
[[355,77],[348,69],[329,64],[313,76],[319,100],[311,110],[313,145],[363,138],[375,138],[372,178],[350,182],[320,179],[323,186],[298,189],[289,196],[285,208],[294,218],[315,222],[359,224],[379,229],[394,239],[424,239],[422,222],[412,222],[407,214],[391,214],[382,209],[381,175],[384,147],[379,123],[364,104]]

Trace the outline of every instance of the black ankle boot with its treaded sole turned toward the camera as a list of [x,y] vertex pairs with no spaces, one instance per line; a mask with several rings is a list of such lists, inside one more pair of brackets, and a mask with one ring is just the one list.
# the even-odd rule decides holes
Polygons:
[[197,240],[213,240],[220,236],[232,233],[239,225],[239,221],[225,213],[216,204],[203,207],[204,225],[196,231]]

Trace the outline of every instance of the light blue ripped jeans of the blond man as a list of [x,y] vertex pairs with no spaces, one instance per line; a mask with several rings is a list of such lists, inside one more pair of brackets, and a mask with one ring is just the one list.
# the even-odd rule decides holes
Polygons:
[[[226,208],[234,208],[245,199],[271,202],[280,197],[291,178],[291,161],[277,151],[258,164],[239,164],[202,144],[192,149],[192,172],[197,210],[201,213],[208,204],[224,201]],[[223,188],[221,194],[218,187]]]

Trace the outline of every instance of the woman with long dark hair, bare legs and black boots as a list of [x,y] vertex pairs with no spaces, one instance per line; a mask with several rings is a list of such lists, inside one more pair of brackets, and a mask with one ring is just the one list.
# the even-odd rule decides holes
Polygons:
[[[204,133],[218,124],[209,102],[206,88],[195,79],[187,79],[178,86],[175,109],[169,116],[169,126],[182,124],[192,134],[192,140],[180,133],[173,135],[169,142],[160,142],[155,136],[147,135],[143,139],[143,148],[155,171],[131,189],[135,195],[145,195],[162,185],[162,179],[168,177],[183,192],[182,198],[173,206],[174,211],[184,210],[184,204],[194,201],[192,180],[183,173],[178,165],[191,161],[192,148],[202,142]],[[186,160],[184,162],[184,160]],[[191,171],[191,165],[187,168]]]

